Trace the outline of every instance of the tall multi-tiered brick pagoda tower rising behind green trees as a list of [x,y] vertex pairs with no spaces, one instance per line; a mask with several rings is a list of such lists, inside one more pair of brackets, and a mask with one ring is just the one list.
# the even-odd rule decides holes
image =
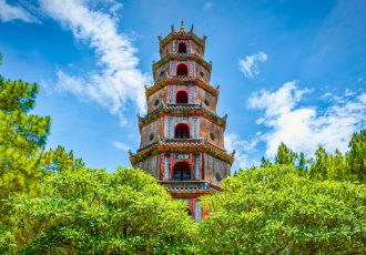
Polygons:
[[210,84],[205,40],[193,27],[186,32],[183,21],[179,31],[172,26],[159,37],[161,60],[153,63],[154,84],[145,86],[148,114],[139,116],[140,150],[130,155],[134,167],[185,200],[196,221],[206,214],[199,197],[221,190],[234,160],[224,149],[226,115],[216,114],[218,86]]

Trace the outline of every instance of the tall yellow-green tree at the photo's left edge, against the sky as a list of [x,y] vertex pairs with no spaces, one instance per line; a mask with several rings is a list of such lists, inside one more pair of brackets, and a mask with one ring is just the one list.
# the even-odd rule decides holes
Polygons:
[[51,120],[29,114],[37,93],[34,83],[0,75],[0,226],[8,211],[3,201],[18,192],[37,194],[42,177],[42,153]]

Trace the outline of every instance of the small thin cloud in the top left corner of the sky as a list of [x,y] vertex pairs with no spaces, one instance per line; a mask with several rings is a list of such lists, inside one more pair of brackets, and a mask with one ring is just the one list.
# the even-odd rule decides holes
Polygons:
[[0,20],[2,22],[9,22],[11,20],[22,20],[24,22],[37,22],[37,19],[32,17],[22,7],[10,6],[6,0],[0,0]]

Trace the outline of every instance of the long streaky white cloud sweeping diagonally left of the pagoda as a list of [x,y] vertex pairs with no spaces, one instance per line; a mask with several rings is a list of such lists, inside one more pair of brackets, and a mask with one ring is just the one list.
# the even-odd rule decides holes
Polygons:
[[[112,4],[112,12],[122,6]],[[136,49],[131,39],[118,32],[113,13],[91,10],[85,1],[40,0],[41,10],[72,31],[77,40],[89,43],[98,55],[98,70],[83,76],[59,70],[57,88],[109,109],[125,123],[126,106],[145,111],[144,84],[149,75],[138,69]]]

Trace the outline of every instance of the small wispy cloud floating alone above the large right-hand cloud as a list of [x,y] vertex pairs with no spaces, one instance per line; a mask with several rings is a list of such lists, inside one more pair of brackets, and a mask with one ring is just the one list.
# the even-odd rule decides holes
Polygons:
[[238,67],[246,78],[254,78],[260,74],[258,62],[265,63],[267,59],[267,54],[260,51],[241,59],[238,61]]

